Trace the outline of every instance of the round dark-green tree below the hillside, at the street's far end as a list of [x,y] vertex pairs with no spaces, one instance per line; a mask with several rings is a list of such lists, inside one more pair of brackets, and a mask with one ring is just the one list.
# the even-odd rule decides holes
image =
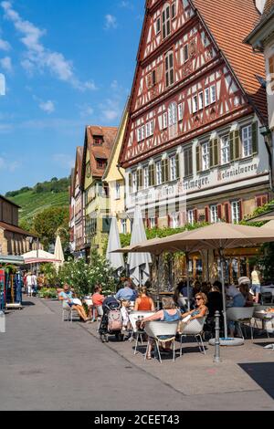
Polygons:
[[35,216],[33,232],[39,237],[46,250],[55,243],[58,229],[62,245],[65,248],[68,247],[68,218],[68,208],[65,207],[50,207]]

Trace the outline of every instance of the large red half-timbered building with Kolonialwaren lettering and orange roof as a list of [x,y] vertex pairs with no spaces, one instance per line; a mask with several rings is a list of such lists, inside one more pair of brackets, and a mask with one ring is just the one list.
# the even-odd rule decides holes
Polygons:
[[237,223],[269,201],[264,60],[243,43],[258,18],[253,0],[147,1],[120,162],[148,227]]

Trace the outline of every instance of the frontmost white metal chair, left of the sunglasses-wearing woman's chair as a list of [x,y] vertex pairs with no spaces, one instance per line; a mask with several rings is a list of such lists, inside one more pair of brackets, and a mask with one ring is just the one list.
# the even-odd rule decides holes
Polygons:
[[[162,363],[161,352],[159,349],[159,343],[172,342],[173,343],[173,357],[175,361],[175,339],[178,330],[179,320],[172,322],[165,321],[150,321],[145,324],[144,331],[148,337],[153,339],[156,344],[158,358],[160,363]],[[164,340],[163,337],[168,336],[169,338]],[[147,359],[149,344],[145,352],[144,359]]]

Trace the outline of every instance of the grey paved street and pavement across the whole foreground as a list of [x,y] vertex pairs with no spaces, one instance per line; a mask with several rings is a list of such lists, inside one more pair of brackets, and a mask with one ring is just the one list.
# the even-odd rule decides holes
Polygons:
[[0,335],[0,410],[274,410],[274,352],[245,348],[144,362],[132,343],[96,338],[96,327],[63,323],[60,304],[30,299]]

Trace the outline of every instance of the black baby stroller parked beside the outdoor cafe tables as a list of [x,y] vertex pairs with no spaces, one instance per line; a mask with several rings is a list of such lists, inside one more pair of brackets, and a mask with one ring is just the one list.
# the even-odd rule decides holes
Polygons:
[[122,341],[122,316],[121,304],[117,299],[110,297],[106,298],[102,304],[103,315],[100,321],[100,340],[109,342],[109,335],[115,335],[116,340]]

